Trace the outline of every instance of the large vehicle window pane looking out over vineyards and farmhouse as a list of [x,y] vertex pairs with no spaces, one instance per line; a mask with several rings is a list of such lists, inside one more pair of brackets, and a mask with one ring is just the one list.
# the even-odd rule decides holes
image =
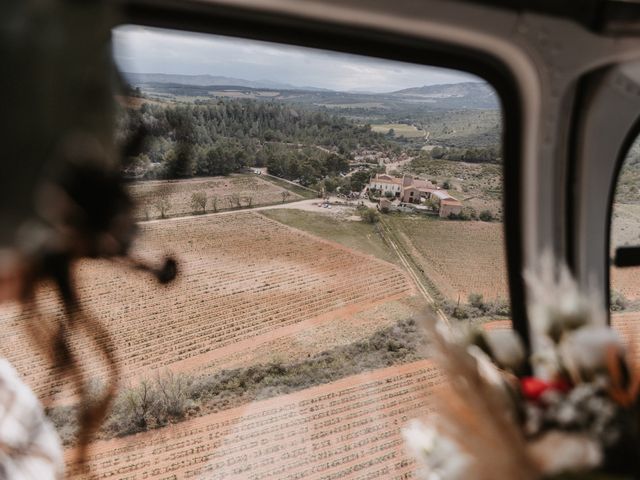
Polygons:
[[[412,477],[400,429],[441,381],[417,319],[435,305],[452,328],[510,328],[496,92],[463,72],[136,26],[114,31],[114,58],[119,136],[146,133],[123,170],[136,255],[174,254],[179,278],[74,272],[122,376],[92,472]],[[0,315],[2,354],[71,458],[76,392],[20,312]]]

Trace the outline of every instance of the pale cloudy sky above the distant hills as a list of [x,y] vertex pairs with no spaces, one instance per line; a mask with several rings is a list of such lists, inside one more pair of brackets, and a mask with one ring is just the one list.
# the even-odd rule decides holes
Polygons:
[[391,92],[479,81],[444,68],[139,26],[113,31],[113,53],[120,70],[129,73],[222,75],[337,91]]

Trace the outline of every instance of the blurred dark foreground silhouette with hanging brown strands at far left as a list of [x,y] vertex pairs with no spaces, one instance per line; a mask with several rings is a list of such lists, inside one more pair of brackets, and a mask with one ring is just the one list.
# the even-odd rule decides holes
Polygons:
[[[116,145],[111,57],[112,2],[3,0],[0,6],[2,146],[0,162],[0,300],[23,306],[26,331],[76,383],[82,397],[79,460],[115,394],[118,368],[109,332],[82,308],[71,275],[86,258],[106,258],[176,275],[167,258],[152,267],[129,257],[136,234],[134,204],[120,171],[144,132]],[[37,287],[51,281],[64,305],[54,328],[36,323]],[[70,339],[82,335],[108,366],[106,388],[88,400],[83,356]]]

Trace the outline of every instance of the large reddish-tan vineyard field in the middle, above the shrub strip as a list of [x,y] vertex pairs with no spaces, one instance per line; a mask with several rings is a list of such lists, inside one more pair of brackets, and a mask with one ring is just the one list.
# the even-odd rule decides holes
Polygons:
[[[345,319],[413,294],[406,274],[394,265],[257,213],[149,222],[141,230],[140,257],[157,259],[166,252],[178,257],[174,284],[160,288],[142,273],[98,261],[84,262],[75,272],[81,301],[114,337],[125,382],[164,368],[221,368],[228,361],[237,365],[238,358],[255,363],[260,359],[252,352],[264,351],[260,345],[313,326],[332,325],[333,334],[321,338],[335,341]],[[60,315],[51,291],[39,298],[43,316],[30,321]],[[376,316],[368,318],[371,328],[380,326]],[[64,379],[30,346],[21,329],[26,321],[16,307],[0,311],[0,354],[41,398],[59,393]],[[349,327],[344,335],[346,342],[361,332]],[[322,349],[319,340],[315,348]],[[92,350],[86,341],[73,339],[73,346],[95,376],[104,372],[85,359]],[[296,351],[304,355],[303,349]]]

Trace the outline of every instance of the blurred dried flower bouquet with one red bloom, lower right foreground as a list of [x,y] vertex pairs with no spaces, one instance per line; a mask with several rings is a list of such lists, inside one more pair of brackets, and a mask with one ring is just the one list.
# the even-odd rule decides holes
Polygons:
[[425,480],[640,478],[640,377],[603,302],[546,256],[528,272],[532,348],[513,330],[426,320],[447,384],[404,429]]

